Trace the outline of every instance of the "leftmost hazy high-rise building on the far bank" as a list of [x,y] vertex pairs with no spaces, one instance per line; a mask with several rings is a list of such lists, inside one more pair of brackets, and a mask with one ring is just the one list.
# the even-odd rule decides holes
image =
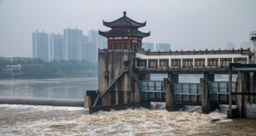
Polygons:
[[49,61],[49,35],[42,32],[32,33],[33,58]]

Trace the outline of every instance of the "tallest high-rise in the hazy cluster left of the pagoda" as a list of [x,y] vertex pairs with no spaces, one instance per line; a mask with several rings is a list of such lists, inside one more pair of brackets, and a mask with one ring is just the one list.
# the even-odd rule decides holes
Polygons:
[[77,59],[77,44],[84,41],[83,31],[76,29],[64,29],[63,59]]

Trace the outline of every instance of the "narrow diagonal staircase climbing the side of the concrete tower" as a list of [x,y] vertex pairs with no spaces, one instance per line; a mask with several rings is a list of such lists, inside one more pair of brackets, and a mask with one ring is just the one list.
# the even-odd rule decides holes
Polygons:
[[123,67],[123,68],[119,71],[119,74],[118,74],[117,77],[114,77],[114,78],[108,83],[108,88],[105,89],[105,91],[104,91],[102,94],[100,94],[100,93],[98,94],[98,96],[97,96],[95,102],[93,103],[92,107],[95,107],[95,106],[97,105],[99,99],[101,99],[102,96],[108,92],[108,89],[113,86],[113,84],[119,79],[119,77],[121,77],[121,76],[123,75],[123,73],[124,73],[125,71],[128,71],[128,69],[127,69],[126,66]]

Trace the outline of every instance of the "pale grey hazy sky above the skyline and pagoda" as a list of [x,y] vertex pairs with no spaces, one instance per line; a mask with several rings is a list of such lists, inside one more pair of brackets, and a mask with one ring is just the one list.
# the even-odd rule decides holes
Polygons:
[[32,57],[32,32],[70,27],[108,31],[102,20],[126,15],[147,21],[143,42],[171,43],[172,50],[225,48],[249,42],[256,31],[256,0],[0,0],[0,55]]

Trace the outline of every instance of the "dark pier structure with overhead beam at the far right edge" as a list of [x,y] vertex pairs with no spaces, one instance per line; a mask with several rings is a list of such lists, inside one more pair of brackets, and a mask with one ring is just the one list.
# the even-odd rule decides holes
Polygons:
[[[232,80],[232,71],[238,71],[236,79],[236,93],[229,91],[229,118],[246,117],[246,103],[255,103],[255,78],[256,65],[230,64],[229,82]],[[231,95],[236,94],[236,109],[232,109]],[[250,107],[250,106],[248,106]],[[250,111],[250,110],[249,110]]]

